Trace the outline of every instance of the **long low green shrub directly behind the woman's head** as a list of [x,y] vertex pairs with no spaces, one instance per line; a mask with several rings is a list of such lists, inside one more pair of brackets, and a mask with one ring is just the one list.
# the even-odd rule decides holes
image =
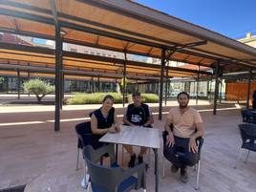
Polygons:
[[117,93],[94,93],[94,94],[75,94],[75,96],[68,99],[68,104],[78,105],[78,104],[100,104],[104,96],[111,95],[114,96],[115,103],[122,102],[122,96]]

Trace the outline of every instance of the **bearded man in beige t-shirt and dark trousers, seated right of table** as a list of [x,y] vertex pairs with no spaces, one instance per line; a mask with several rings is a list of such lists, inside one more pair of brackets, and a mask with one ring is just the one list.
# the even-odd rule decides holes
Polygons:
[[[196,138],[203,136],[203,120],[197,110],[188,106],[187,93],[181,92],[177,99],[180,106],[169,111],[164,125],[168,135],[164,140],[163,155],[172,162],[172,172],[181,168],[181,181],[187,182],[186,166],[193,166],[198,161]],[[182,152],[184,156],[177,158],[177,152]]]

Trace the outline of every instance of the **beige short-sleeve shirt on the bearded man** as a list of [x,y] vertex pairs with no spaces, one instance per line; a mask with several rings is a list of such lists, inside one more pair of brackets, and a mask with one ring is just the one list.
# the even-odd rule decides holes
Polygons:
[[173,107],[169,111],[168,118],[173,123],[173,134],[180,138],[190,138],[195,132],[196,123],[203,122],[199,112],[189,107],[181,114],[180,107]]

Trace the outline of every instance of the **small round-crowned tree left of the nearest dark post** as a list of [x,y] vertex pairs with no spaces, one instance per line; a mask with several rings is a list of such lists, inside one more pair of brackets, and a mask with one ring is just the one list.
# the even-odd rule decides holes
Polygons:
[[25,92],[32,93],[36,96],[37,102],[40,103],[42,98],[54,92],[54,86],[46,83],[41,79],[31,79],[23,84]]

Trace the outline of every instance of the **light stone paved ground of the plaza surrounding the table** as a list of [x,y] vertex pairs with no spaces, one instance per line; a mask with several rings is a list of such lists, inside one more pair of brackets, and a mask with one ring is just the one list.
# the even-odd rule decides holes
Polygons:
[[[164,114],[176,102],[163,107]],[[193,100],[191,100],[193,104]],[[150,104],[155,114],[154,126],[162,129],[158,118],[158,103]],[[79,185],[82,169],[75,171],[75,124],[83,121],[100,105],[65,106],[61,112],[61,130],[53,132],[53,106],[0,106],[0,190],[27,184],[26,192],[85,191]],[[123,107],[115,105],[117,114]],[[203,192],[253,192],[256,181],[256,156],[250,155],[247,164],[242,161],[237,170],[232,168],[240,145],[237,124],[240,111],[235,105],[220,105],[222,111],[212,116],[211,106],[200,101],[196,106],[203,115],[206,128],[203,145],[201,189]],[[150,164],[154,158],[151,155]],[[160,153],[160,168],[161,168]],[[128,157],[126,154],[126,163]],[[82,161],[80,161],[81,165]],[[160,192],[194,191],[195,173],[190,170],[190,181],[181,184],[179,175],[168,172],[160,179]],[[154,189],[154,174],[147,173],[148,191]]]

